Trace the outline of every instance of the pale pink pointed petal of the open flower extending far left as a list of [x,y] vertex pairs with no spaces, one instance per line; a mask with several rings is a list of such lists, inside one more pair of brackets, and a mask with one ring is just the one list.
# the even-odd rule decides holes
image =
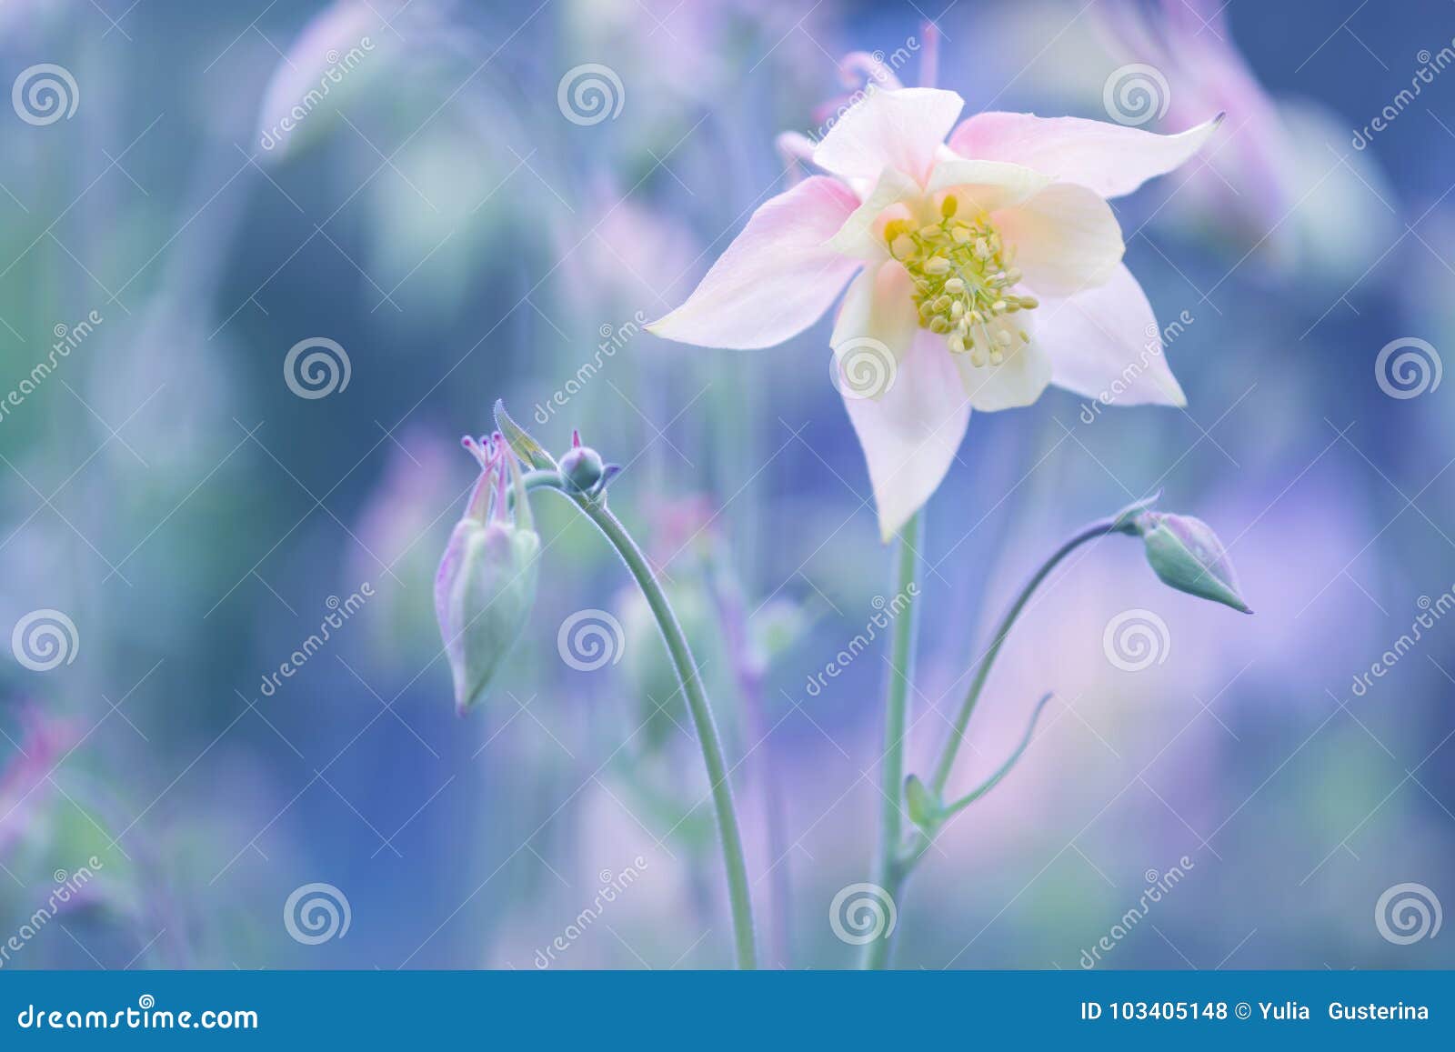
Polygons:
[[858,205],[837,179],[812,176],[767,201],[687,303],[647,326],[679,343],[762,348],[808,329],[858,268],[828,242]]

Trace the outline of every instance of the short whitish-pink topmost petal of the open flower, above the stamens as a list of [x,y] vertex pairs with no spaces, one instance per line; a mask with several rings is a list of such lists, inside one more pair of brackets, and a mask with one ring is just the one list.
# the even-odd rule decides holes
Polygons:
[[870,182],[892,167],[922,186],[963,108],[959,95],[933,87],[870,92],[824,137],[813,163],[844,179]]

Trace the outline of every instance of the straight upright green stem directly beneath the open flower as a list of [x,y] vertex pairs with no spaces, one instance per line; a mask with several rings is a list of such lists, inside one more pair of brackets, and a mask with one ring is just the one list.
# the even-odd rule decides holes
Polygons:
[[[921,512],[915,512],[899,531],[899,562],[895,575],[895,595],[908,594],[918,582],[920,546],[922,543]],[[901,864],[901,816],[905,780],[905,714],[909,701],[909,684],[914,678],[915,636],[920,626],[920,604],[909,608],[895,621],[890,647],[889,690],[885,704],[885,757],[880,761],[880,793],[883,802],[879,815],[879,854],[874,863],[874,883],[885,889],[889,901],[899,896],[899,888],[908,870]],[[889,966],[890,937],[886,934],[864,944],[860,966],[879,969]]]

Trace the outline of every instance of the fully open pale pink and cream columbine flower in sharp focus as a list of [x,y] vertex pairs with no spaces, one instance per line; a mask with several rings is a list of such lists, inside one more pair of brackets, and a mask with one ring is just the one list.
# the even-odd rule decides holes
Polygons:
[[1186,403],[1106,199],[1186,162],[1221,118],[1180,135],[1000,112],[956,127],[963,106],[928,87],[872,92],[813,150],[828,175],[758,208],[647,326],[765,348],[854,278],[831,343],[886,540],[940,485],[972,407],[1026,406],[1052,383]]

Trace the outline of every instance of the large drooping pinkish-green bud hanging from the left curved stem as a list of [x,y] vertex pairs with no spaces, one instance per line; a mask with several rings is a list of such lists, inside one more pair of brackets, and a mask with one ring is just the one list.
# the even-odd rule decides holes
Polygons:
[[480,480],[439,562],[435,615],[454,672],[455,709],[464,714],[485,697],[525,627],[541,540],[505,439],[496,434],[485,444],[461,441],[480,463]]

